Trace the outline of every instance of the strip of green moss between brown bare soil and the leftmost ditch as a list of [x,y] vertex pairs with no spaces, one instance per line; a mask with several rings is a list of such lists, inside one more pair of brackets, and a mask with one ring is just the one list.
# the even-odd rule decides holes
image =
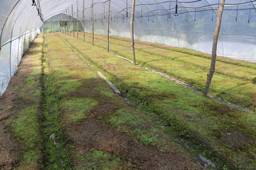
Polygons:
[[41,57],[41,37],[39,42],[33,43],[33,47],[25,54],[27,57],[27,75],[21,83],[22,88],[16,91],[20,96],[17,101],[26,101],[23,106],[15,106],[13,113],[15,116],[7,120],[11,127],[12,134],[20,145],[20,163],[17,169],[35,168],[41,165],[42,158],[42,137],[40,134],[40,57]]

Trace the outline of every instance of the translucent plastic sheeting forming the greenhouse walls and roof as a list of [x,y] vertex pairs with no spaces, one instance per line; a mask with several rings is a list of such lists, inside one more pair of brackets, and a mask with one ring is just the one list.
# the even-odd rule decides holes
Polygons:
[[[78,7],[78,30],[82,30],[83,0],[35,0],[37,5],[38,1],[44,26],[37,15],[38,6],[31,6],[32,1],[0,0],[0,95],[17,71],[21,56],[39,32],[38,28],[42,26],[44,32],[60,31],[60,16],[68,12],[71,21],[73,5],[74,18]],[[211,53],[218,3],[219,0],[179,0],[176,15],[176,1],[136,0],[135,38]],[[92,30],[91,4],[92,0],[85,0],[87,32]],[[110,35],[130,38],[131,5],[132,0],[127,4],[126,0],[111,0]],[[225,1],[218,55],[256,62],[255,6],[253,0]],[[93,9],[95,33],[106,35],[108,1],[94,0]],[[76,30],[76,23],[74,27]]]

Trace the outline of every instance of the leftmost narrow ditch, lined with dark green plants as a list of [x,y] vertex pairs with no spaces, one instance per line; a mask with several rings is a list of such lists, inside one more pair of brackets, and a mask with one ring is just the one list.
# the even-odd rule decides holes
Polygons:
[[[45,46],[47,47],[47,46]],[[44,137],[44,168],[63,169],[70,168],[70,147],[63,139],[62,126],[60,124],[60,101],[57,93],[58,81],[51,67],[51,56],[46,53],[42,56],[42,115],[41,131]],[[48,58],[48,60],[46,59]],[[49,60],[50,59],[50,60]],[[63,89],[61,89],[63,90]],[[64,91],[64,90],[63,90]]]

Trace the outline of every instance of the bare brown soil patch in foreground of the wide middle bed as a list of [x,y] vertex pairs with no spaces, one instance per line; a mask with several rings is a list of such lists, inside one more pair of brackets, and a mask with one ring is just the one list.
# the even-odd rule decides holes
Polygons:
[[199,169],[176,145],[171,152],[135,142],[97,119],[89,119],[67,131],[69,140],[85,150],[112,153],[139,169]]

